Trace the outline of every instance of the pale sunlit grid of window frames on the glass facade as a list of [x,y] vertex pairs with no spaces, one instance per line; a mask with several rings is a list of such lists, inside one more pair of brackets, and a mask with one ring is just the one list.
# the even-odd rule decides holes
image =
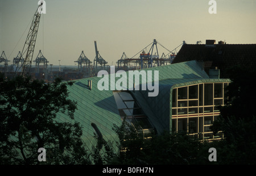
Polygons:
[[[175,112],[174,114],[172,114],[172,128],[176,128],[176,129],[172,129],[172,131],[174,132],[178,132],[179,131],[179,126],[178,126],[178,121],[179,119],[184,119],[187,118],[187,121],[189,123],[189,120],[191,118],[197,118],[197,133],[195,134],[189,134],[189,135],[196,135],[197,137],[200,137],[201,139],[220,139],[221,137],[223,137],[223,133],[222,132],[218,132],[219,135],[214,136],[212,131],[208,131],[208,128],[212,125],[212,124],[205,124],[204,118],[207,119],[209,116],[212,116],[212,123],[214,122],[214,120],[216,120],[216,116],[220,115],[220,111],[218,110],[218,106],[224,106],[225,104],[225,100],[226,100],[226,87],[229,85],[230,82],[203,82],[203,83],[196,83],[193,85],[187,85],[187,86],[181,86],[181,87],[187,87],[187,99],[178,99],[178,93],[179,93],[179,88],[181,87],[175,87],[172,91],[175,92],[176,94],[174,94],[174,96],[172,96],[172,105],[173,103],[175,103],[174,106],[171,106],[172,112]],[[205,105],[205,89],[207,89],[207,87],[205,87],[206,84],[212,84],[212,90],[210,90],[210,93],[212,93],[212,95],[210,95],[210,97],[212,97],[212,103],[210,103],[211,105]],[[221,89],[220,93],[217,93],[219,96],[216,97],[216,85],[215,84],[221,84]],[[190,86],[194,86],[197,85],[197,98],[193,99],[195,97],[189,97],[189,87]],[[207,85],[208,86],[208,85]],[[218,85],[219,86],[219,85]],[[210,87],[209,87],[210,88]],[[214,89],[215,88],[215,89]],[[180,104],[187,101],[187,106],[184,107],[180,107]],[[193,102],[195,101],[195,102]],[[185,104],[185,103],[183,103]],[[197,104],[197,106],[195,106]],[[183,108],[183,113],[181,113],[181,108]],[[185,111],[185,108],[187,108],[187,111]],[[195,110],[193,110],[193,108],[195,108]],[[197,108],[197,111],[196,111]],[[193,111],[192,111],[193,110]],[[185,114],[184,112],[187,112],[187,114]],[[202,121],[201,121],[202,120]],[[188,124],[189,125],[189,124]],[[200,126],[201,125],[201,126]],[[206,131],[207,129],[207,131]],[[187,132],[189,132],[189,127],[187,128]],[[209,137],[212,136],[212,137]]]

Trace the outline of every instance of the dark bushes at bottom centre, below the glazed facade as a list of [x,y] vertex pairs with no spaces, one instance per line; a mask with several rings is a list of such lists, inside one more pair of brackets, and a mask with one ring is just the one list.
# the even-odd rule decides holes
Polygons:
[[146,139],[125,120],[121,127],[114,125],[113,130],[119,137],[119,151],[105,160],[108,164],[210,164],[208,146],[187,133],[166,132]]

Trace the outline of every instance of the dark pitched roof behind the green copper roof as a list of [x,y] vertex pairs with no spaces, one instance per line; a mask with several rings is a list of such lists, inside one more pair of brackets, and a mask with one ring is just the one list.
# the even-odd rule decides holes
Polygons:
[[247,70],[256,69],[256,44],[184,44],[172,64],[197,60],[205,72],[220,69],[220,77],[227,78],[226,69],[240,65]]

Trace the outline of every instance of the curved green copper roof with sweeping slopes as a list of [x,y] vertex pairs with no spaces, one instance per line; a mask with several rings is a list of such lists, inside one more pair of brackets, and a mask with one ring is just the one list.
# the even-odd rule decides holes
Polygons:
[[[197,61],[182,62],[179,64],[171,64],[148,68],[143,70],[159,71],[159,94],[157,97],[148,97],[148,91],[130,91],[134,94],[139,105],[143,108],[148,119],[154,125],[158,132],[169,129],[170,120],[170,95],[171,88],[174,85],[181,85],[187,82],[208,80],[209,76]],[[138,70],[140,71],[140,70]],[[127,74],[127,88],[129,78]],[[82,139],[90,149],[96,144],[95,131],[92,123],[96,124],[105,140],[118,140],[117,135],[113,131],[113,124],[121,125],[121,117],[119,116],[117,104],[113,96],[113,90],[110,86],[113,83],[109,78],[109,90],[100,91],[97,87],[101,77],[92,77],[78,79],[72,86],[68,86],[69,99],[77,102],[77,110],[75,112],[75,121],[83,126]],[[118,80],[115,77],[115,82]],[[92,89],[88,87],[88,81],[92,81]],[[134,81],[134,80],[133,80]],[[67,115],[59,114],[61,121],[71,121]],[[166,123],[168,121],[168,123]]]

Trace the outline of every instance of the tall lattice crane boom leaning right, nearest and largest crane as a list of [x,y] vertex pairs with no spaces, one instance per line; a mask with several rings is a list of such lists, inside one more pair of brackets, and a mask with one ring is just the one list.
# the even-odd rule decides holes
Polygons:
[[[20,76],[24,77],[26,74],[30,73],[30,68],[31,68],[31,62],[32,62],[32,57],[35,49],[35,43],[36,43],[36,36],[38,35],[38,27],[39,27],[39,22],[40,22],[40,17],[42,14],[42,8],[43,8],[43,2],[41,1],[38,8],[36,9],[34,18],[32,20],[30,30],[28,31],[27,39],[26,42],[23,46],[22,49],[22,54],[21,56],[26,53],[26,56],[24,57],[23,63],[22,63],[22,72],[20,73]],[[19,58],[19,61],[22,60],[22,57]],[[16,75],[17,68],[15,70],[14,76]]]

